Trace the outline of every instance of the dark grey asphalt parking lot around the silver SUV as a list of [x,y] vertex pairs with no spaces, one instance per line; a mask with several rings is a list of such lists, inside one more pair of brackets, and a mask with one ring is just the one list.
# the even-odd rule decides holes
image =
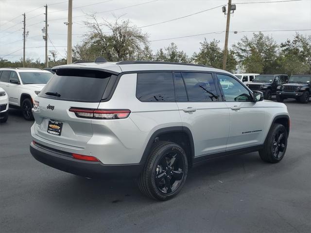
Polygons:
[[85,179],[37,162],[33,122],[10,109],[0,125],[0,232],[310,233],[311,102],[285,103],[291,133],[280,163],[258,153],[209,162],[165,202],[133,180]]

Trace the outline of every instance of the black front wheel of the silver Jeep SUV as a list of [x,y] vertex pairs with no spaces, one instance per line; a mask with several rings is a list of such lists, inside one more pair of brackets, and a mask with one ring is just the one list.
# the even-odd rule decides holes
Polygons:
[[260,158],[269,163],[280,162],[287,148],[287,131],[281,124],[274,124],[264,143],[264,148],[259,150]]

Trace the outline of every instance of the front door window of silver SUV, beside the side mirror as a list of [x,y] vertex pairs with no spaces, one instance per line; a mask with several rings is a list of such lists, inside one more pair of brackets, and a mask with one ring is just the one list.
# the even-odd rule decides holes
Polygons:
[[249,91],[236,79],[225,74],[217,74],[217,78],[222,86],[226,101],[253,101]]

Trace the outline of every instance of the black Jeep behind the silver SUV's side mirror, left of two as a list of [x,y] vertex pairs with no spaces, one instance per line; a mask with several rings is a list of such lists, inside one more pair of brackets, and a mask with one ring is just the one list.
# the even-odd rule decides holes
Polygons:
[[271,100],[276,95],[277,86],[288,82],[287,74],[260,74],[253,83],[248,83],[249,89],[263,92],[265,100]]

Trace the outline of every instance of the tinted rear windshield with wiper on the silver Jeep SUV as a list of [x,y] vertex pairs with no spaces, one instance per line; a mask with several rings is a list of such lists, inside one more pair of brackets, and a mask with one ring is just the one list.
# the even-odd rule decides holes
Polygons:
[[76,102],[100,102],[111,73],[87,69],[59,69],[38,96]]

